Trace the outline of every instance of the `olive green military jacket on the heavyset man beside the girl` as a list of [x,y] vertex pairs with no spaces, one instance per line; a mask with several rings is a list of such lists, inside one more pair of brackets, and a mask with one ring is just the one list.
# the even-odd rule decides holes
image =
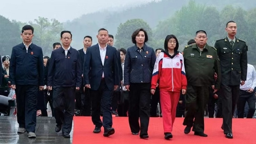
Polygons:
[[[220,88],[221,71],[218,54],[214,47],[206,44],[200,52],[196,44],[187,45],[183,51],[187,84],[190,86]],[[214,80],[214,73],[218,78]]]

